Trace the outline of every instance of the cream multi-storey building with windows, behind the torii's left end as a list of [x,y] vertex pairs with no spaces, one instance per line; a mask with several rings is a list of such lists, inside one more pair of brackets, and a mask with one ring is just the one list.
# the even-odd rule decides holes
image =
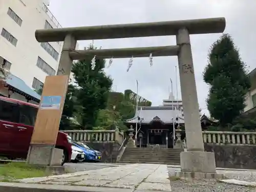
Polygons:
[[61,28],[49,3],[0,0],[0,65],[34,90],[43,86],[46,76],[56,74],[63,44],[35,39],[36,29]]

